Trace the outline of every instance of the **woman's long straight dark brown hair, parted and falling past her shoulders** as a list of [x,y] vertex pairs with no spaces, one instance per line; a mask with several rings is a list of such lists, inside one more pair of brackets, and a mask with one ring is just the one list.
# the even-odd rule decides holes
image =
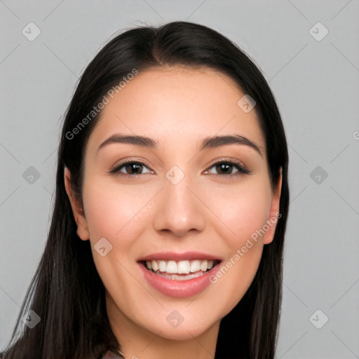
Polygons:
[[[58,150],[55,203],[46,248],[29,285],[4,359],[97,359],[121,348],[111,331],[104,286],[95,269],[90,241],[81,241],[64,184],[64,168],[81,196],[83,155],[99,116],[79,127],[96,104],[123,77],[154,67],[210,67],[227,74],[256,102],[255,111],[266,140],[273,188],[282,168],[281,217],[273,242],[264,245],[262,259],[248,292],[222,319],[215,358],[273,359],[282,297],[283,243],[289,205],[287,142],[268,83],[258,67],[234,43],[213,29],[191,22],[138,27],[114,37],[86,67],[67,109]],[[83,123],[83,122],[82,122]],[[76,138],[72,138],[74,128]],[[33,310],[41,321],[21,327]]]

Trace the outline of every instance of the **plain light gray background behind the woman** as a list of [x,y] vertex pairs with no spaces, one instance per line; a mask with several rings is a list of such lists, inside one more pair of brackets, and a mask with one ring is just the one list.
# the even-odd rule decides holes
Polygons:
[[57,136],[81,72],[119,29],[189,20],[255,58],[283,115],[291,204],[277,358],[359,358],[358,0],[0,1],[0,16],[0,348],[46,241]]

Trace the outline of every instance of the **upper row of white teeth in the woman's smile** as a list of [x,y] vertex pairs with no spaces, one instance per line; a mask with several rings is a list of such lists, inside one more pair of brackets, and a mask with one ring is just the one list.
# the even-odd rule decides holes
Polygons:
[[[194,259],[191,261],[162,261],[162,260],[153,260],[147,261],[146,266],[147,269],[152,270],[156,273],[156,271],[160,271],[161,273],[168,274],[189,274],[196,272],[205,272],[209,269],[212,269],[214,261],[204,259]],[[172,276],[173,277],[173,276]],[[186,276],[186,278],[189,276]],[[191,278],[189,278],[191,279]]]

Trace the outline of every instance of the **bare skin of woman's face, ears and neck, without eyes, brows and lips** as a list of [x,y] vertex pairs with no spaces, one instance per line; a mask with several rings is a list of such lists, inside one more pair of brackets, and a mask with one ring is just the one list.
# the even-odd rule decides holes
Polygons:
[[[255,110],[245,113],[237,105],[243,95],[232,79],[212,69],[140,72],[104,107],[89,137],[83,208],[65,169],[77,233],[91,243],[111,327],[126,359],[214,358],[220,320],[248,290],[263,246],[273,240],[275,224],[196,297],[158,292],[144,281],[136,262],[154,252],[199,251],[225,264],[278,214],[281,179],[272,189]],[[159,147],[116,143],[97,151],[116,133],[151,137]],[[262,156],[245,144],[198,151],[204,137],[233,134],[255,143]],[[137,177],[121,176],[131,173],[126,167],[109,173],[130,159],[149,166]],[[235,167],[228,172],[236,176],[222,174],[215,164],[223,159],[241,161],[250,175]],[[178,184],[165,177],[173,165],[184,173]],[[113,246],[104,257],[93,248],[100,238]],[[166,320],[174,310],[184,318],[178,327]]]

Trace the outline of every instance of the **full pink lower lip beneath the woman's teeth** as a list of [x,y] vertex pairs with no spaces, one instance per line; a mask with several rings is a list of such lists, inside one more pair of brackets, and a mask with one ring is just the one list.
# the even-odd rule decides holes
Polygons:
[[143,264],[139,264],[143,273],[144,279],[159,292],[168,297],[187,298],[192,297],[210,285],[210,276],[216,271],[218,265],[203,273],[203,276],[192,278],[189,280],[172,280],[158,276],[153,271],[144,268]]

